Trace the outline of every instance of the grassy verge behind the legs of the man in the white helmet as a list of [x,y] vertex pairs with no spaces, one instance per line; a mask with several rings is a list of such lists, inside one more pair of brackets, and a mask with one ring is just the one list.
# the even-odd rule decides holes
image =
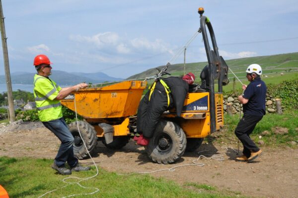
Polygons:
[[[242,115],[241,115],[242,116]],[[224,115],[224,125],[225,132],[224,137],[221,137],[219,141],[228,142],[230,140],[237,141],[234,134],[234,130],[239,122],[239,114],[234,115]],[[285,127],[289,129],[289,133],[285,135],[274,134],[273,129],[278,127]],[[297,147],[298,144],[292,145],[292,141],[298,143],[298,110],[288,110],[282,115],[279,114],[269,114],[267,113],[263,119],[256,125],[251,138],[254,141],[258,141],[259,136],[263,131],[267,130],[270,132],[269,135],[262,136],[262,140],[265,142],[266,146],[280,147],[280,146],[290,146]]]

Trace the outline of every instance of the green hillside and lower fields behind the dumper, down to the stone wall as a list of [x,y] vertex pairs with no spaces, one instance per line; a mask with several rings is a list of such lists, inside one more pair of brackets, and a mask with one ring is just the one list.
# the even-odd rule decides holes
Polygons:
[[[248,84],[248,81],[246,80],[245,70],[248,65],[253,63],[261,65],[263,70],[262,79],[267,84],[279,84],[284,80],[298,78],[298,53],[232,59],[225,60],[225,62],[229,66],[231,71],[235,73],[235,75],[241,80],[243,84]],[[207,62],[187,63],[186,72],[193,72],[196,76],[196,83],[200,84],[201,71],[207,64]],[[163,66],[160,66],[159,68],[163,68]],[[183,64],[174,64],[168,67],[167,72],[169,72],[172,76],[181,76],[183,75],[183,68]],[[149,77],[155,75],[156,73],[157,70],[153,68],[143,73],[129,77],[129,79]],[[284,75],[282,76],[281,73],[283,73]],[[235,77],[230,71],[228,72],[228,78],[230,80],[230,83],[228,86],[224,87],[224,91],[232,90],[232,81]],[[149,81],[149,84],[150,83],[151,81]],[[241,88],[241,84],[237,80],[236,88]]]

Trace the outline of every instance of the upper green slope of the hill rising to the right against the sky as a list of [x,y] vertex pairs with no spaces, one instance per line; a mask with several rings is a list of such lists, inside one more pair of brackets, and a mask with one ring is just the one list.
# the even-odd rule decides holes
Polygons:
[[[237,75],[240,79],[245,79],[245,70],[248,65],[257,63],[260,64],[263,69],[264,75],[270,75],[273,73],[281,73],[286,71],[298,72],[298,52],[288,53],[288,54],[278,54],[271,56],[257,56],[249,58],[231,59],[225,60],[229,68]],[[183,75],[184,64],[173,64],[168,67],[167,72],[172,76]],[[185,70],[187,72],[193,72],[197,77],[196,81],[200,81],[199,77],[202,69],[208,65],[208,62],[198,62],[198,63],[187,63],[185,64]],[[164,66],[158,66],[158,68],[163,68]],[[158,74],[155,68],[146,70],[142,73],[133,75],[127,79],[140,79],[145,77],[150,77]],[[168,77],[166,75],[165,77]],[[233,74],[229,71],[228,77],[233,77]]]

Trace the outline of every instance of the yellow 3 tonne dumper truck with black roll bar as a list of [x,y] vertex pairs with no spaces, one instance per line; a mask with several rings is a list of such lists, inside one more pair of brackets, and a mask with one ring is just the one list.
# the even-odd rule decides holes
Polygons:
[[[199,8],[200,28],[203,35],[208,65],[201,73],[201,85],[192,85],[183,104],[180,117],[175,109],[162,114],[153,137],[145,147],[152,161],[173,163],[185,150],[196,150],[203,139],[224,126],[223,85],[228,84],[226,65],[219,55],[213,27],[208,17]],[[210,47],[207,28],[213,50]],[[165,71],[164,71],[165,72]],[[166,72],[165,72],[166,73]],[[218,92],[215,93],[215,80]],[[78,159],[88,157],[82,138],[90,153],[95,152],[98,140],[111,149],[120,149],[137,133],[137,108],[147,82],[125,81],[117,84],[79,90],[61,103],[76,111],[85,121],[69,125],[74,135],[74,154]],[[79,128],[79,131],[78,131]]]

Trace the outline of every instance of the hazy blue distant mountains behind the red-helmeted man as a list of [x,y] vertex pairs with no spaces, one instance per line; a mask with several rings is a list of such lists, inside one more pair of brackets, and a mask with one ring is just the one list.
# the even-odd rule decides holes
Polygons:
[[[31,85],[33,84],[33,77],[35,73],[27,72],[15,72],[10,75],[12,84],[24,84]],[[78,83],[102,83],[105,81],[120,81],[123,79],[110,77],[102,72],[98,73],[68,73],[59,70],[52,70],[51,79],[56,81],[59,85],[74,85]],[[0,75],[0,83],[5,83],[5,76]]]

